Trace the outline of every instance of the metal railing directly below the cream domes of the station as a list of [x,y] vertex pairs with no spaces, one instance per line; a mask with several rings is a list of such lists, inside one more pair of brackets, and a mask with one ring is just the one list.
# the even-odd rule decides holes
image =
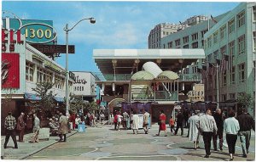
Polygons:
[[177,91],[147,91],[143,89],[131,90],[131,101],[177,101]]

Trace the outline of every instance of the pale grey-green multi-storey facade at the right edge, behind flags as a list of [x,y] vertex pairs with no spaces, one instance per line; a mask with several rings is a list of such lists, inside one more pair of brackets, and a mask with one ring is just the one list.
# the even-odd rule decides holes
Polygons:
[[[217,101],[217,63],[219,102],[237,99],[243,93],[255,98],[256,3],[240,3],[204,40],[207,61],[215,64],[213,72],[204,77],[207,100]],[[207,65],[207,71],[210,69]]]

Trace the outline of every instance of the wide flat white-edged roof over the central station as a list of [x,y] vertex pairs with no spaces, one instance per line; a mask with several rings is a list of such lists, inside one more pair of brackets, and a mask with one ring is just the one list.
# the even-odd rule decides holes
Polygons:
[[[206,59],[203,49],[94,49],[93,59],[102,74],[133,74],[152,61],[161,70],[177,72],[197,59]],[[183,60],[183,63],[179,62]]]

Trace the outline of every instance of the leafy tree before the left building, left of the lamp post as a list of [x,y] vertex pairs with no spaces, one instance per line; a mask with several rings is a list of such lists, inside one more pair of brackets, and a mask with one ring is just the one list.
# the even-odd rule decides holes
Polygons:
[[52,110],[55,108],[55,94],[52,91],[49,91],[55,84],[49,81],[40,81],[38,82],[36,88],[32,88],[32,91],[37,93],[37,96],[41,100],[31,103],[32,107],[35,109],[40,109],[43,111]]

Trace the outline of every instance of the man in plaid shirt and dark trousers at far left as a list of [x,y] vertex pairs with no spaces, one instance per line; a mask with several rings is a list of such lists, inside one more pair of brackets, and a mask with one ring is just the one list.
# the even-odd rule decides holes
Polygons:
[[15,135],[15,127],[16,127],[16,120],[15,117],[12,115],[12,112],[8,113],[8,116],[4,120],[4,128],[5,128],[5,141],[3,144],[3,148],[7,148],[7,143],[9,142],[9,137],[12,137],[15,148],[18,148],[18,144],[16,141],[16,135]]

